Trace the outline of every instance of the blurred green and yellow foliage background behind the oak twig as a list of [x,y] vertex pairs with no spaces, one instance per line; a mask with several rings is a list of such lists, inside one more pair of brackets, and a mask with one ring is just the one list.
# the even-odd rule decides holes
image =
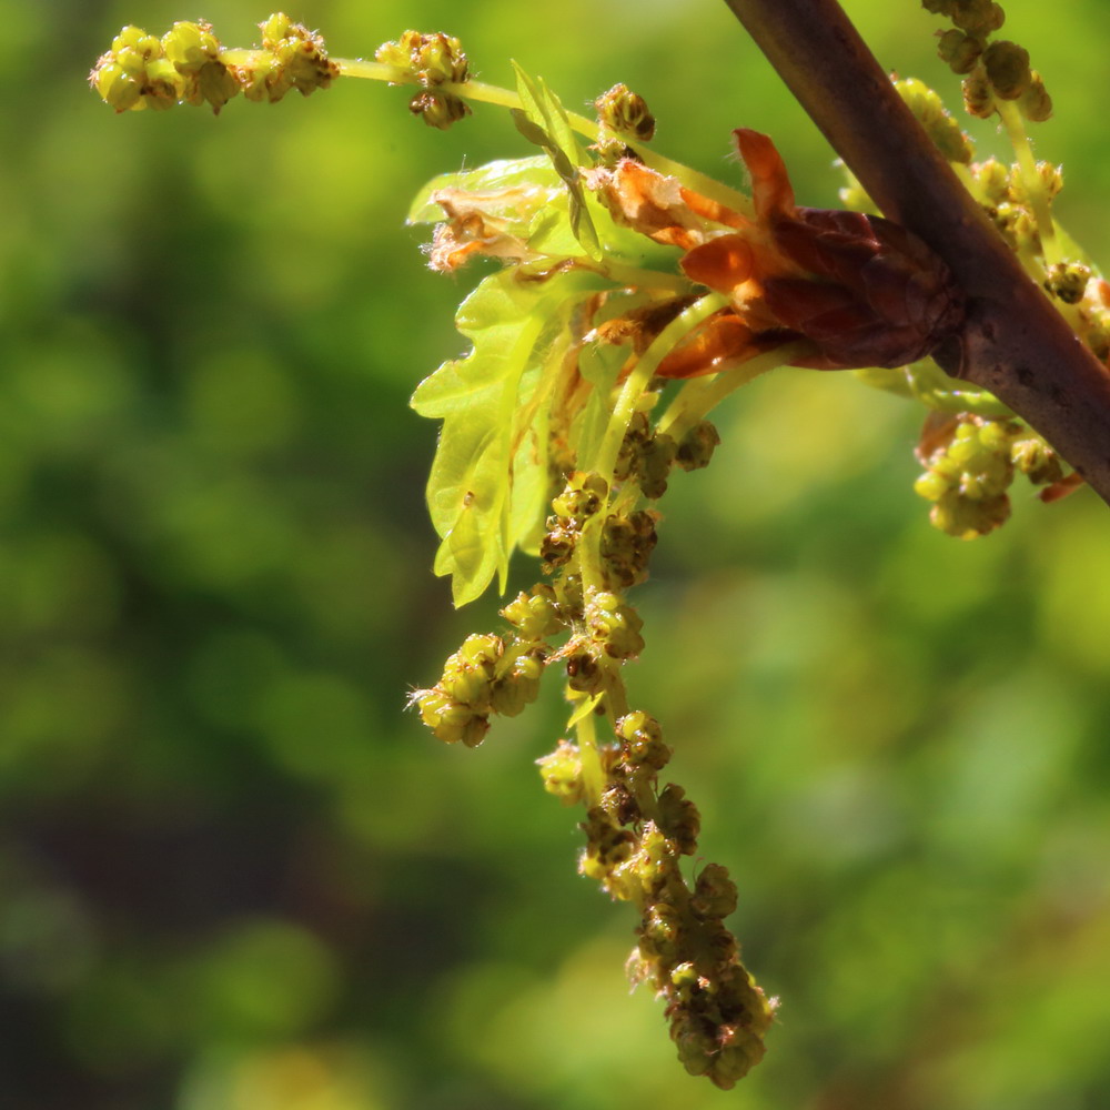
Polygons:
[[[915,0],[847,4],[958,99]],[[1057,104],[1058,211],[1110,232],[1102,0],[1010,0]],[[724,4],[305,0],[337,56],[462,37],[571,104],[617,80],[659,145],[738,179],[831,155]],[[558,690],[476,751],[403,712],[495,599],[431,574],[435,427],[466,273],[403,226],[432,174],[523,153],[341,81],[219,119],[115,117],[83,75],[125,22],[244,0],[0,0],[0,1107],[4,1110],[1094,1110],[1110,1106],[1110,516],[1019,492],[934,532],[921,413],[783,372],[678,476],[633,697],[676,748],[746,958],[783,999],[724,1093],[629,997],[633,914],[575,874],[533,760]],[[1002,148],[989,125],[983,152]],[[525,561],[526,562],[526,561]],[[534,567],[518,565],[518,584]]]

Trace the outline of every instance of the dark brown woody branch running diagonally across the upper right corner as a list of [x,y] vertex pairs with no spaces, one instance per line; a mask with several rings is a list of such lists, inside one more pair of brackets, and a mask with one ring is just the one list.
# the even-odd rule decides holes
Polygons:
[[950,373],[990,390],[1110,504],[1110,373],[1026,274],[836,0],[726,0],[889,219],[968,296]]

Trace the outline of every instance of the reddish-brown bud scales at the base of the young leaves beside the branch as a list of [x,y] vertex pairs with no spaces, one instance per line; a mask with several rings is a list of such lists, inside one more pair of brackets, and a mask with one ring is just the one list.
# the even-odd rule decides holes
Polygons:
[[686,275],[726,293],[659,373],[693,377],[798,340],[791,362],[818,370],[902,366],[930,354],[963,319],[963,294],[919,239],[880,216],[798,208],[767,135],[739,129],[755,219],[705,239],[682,261]]

